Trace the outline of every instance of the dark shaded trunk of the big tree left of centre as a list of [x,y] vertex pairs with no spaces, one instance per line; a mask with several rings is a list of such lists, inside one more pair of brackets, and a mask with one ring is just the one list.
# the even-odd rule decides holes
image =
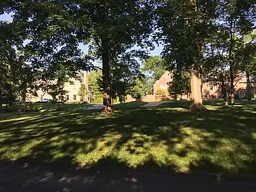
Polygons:
[[109,47],[108,40],[102,38],[102,77],[103,77],[103,112],[110,113],[113,110],[110,96],[110,77],[109,77]]

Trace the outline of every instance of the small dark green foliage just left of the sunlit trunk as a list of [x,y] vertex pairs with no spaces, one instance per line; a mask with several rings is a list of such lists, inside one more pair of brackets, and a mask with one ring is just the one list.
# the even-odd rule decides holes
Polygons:
[[168,84],[170,96],[177,100],[177,95],[189,94],[190,91],[190,73],[186,71],[173,71],[172,81]]

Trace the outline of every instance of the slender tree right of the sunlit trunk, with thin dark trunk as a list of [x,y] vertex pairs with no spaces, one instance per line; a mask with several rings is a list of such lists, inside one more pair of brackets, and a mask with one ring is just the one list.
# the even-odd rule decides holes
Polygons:
[[219,38],[224,41],[223,51],[227,55],[227,63],[230,71],[231,104],[234,104],[234,80],[239,73],[236,53],[238,44],[241,42],[239,36],[249,34],[255,25],[255,1],[218,1],[218,26],[222,33]]

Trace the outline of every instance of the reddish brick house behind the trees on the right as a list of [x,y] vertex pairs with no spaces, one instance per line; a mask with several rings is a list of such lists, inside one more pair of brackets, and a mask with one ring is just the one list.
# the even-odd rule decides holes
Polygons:
[[[162,77],[154,84],[154,96],[158,90],[163,90],[166,92],[166,97],[170,98],[168,95],[168,83],[172,81],[171,73],[166,71]],[[247,90],[247,79],[241,75],[234,82],[234,89],[239,98],[245,98]],[[203,98],[222,98],[222,91],[220,83],[214,82],[209,78],[202,79],[202,91]],[[256,82],[251,79],[251,93],[252,97],[256,98]],[[179,96],[179,99],[188,99],[189,96],[183,95]]]

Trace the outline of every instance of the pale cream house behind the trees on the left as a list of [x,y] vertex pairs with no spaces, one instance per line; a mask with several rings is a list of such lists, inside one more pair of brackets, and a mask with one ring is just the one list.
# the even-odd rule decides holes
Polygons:
[[[64,90],[67,92],[64,96],[64,100],[67,102],[79,102],[82,100],[89,101],[89,96],[86,96],[86,98],[82,98],[78,96],[79,88],[82,84],[86,85],[87,90],[89,89],[88,86],[88,72],[83,71],[79,73],[79,79],[71,78],[69,79],[69,82],[65,83]],[[48,93],[43,92],[42,90],[38,90],[36,92],[37,96],[28,96],[28,101],[30,102],[38,102],[42,100],[43,98],[53,99],[52,96],[50,96]]]

